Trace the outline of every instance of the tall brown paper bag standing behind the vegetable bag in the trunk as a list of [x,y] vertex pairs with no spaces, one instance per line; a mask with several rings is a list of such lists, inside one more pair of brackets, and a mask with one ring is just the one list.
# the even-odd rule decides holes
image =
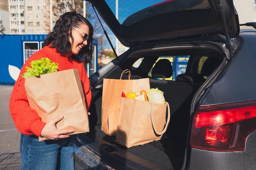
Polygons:
[[[121,79],[128,73],[128,79]],[[149,79],[130,79],[131,72],[124,70],[120,79],[103,79],[101,130],[109,136],[117,134],[117,123],[122,92],[140,92],[150,88]]]

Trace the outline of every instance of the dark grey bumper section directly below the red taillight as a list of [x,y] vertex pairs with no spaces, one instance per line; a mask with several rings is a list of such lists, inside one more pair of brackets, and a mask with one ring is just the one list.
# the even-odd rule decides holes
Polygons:
[[246,139],[243,152],[214,152],[191,149],[189,170],[255,170],[256,131]]

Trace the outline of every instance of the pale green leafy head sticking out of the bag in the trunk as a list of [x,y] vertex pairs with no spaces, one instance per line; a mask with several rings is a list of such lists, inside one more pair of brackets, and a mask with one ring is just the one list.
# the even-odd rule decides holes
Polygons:
[[164,92],[160,91],[158,88],[150,88],[147,95],[149,102],[165,104]]

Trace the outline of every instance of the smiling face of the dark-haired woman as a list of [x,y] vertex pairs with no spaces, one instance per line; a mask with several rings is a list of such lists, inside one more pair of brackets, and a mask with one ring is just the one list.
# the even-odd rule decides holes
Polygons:
[[89,36],[89,26],[84,23],[81,23],[78,28],[72,29],[72,36],[74,38],[74,42],[72,42],[71,37],[69,38],[71,46],[71,53],[77,55],[81,49],[88,44],[87,39],[84,40],[84,35],[87,34]]

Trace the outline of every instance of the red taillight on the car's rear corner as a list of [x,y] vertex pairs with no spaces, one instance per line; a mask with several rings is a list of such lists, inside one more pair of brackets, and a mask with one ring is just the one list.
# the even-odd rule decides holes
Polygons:
[[200,107],[194,115],[190,145],[212,151],[242,151],[256,130],[256,101]]

